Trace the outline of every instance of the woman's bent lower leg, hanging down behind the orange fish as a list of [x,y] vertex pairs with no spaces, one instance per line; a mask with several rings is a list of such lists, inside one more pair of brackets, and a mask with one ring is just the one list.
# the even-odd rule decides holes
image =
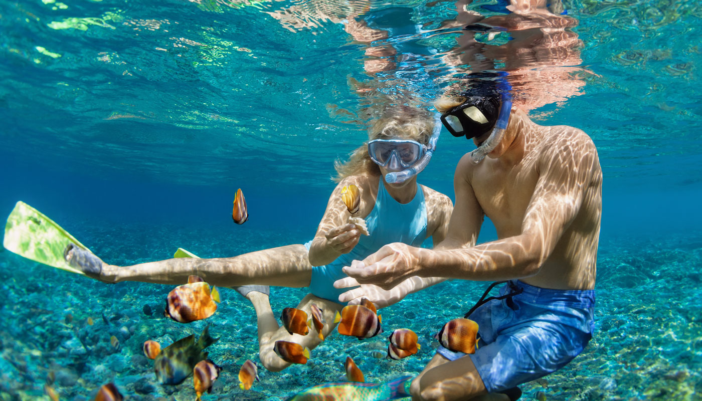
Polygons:
[[[253,307],[256,309],[256,315],[258,316],[258,356],[263,366],[271,372],[279,372],[291,365],[290,362],[282,360],[273,350],[276,341],[298,343],[301,346],[310,348],[310,350],[322,343],[323,340],[319,338],[317,329],[314,329],[314,327],[310,329],[310,332],[307,333],[306,336],[290,334],[285,327],[279,327],[278,321],[273,317],[273,311],[270,308],[270,303],[268,303],[267,295],[261,294],[260,292],[251,292],[246,295],[246,298],[251,300]],[[312,311],[310,307],[312,303],[317,304],[317,306],[322,309],[322,314],[326,321],[324,329],[322,329],[322,334],[324,338],[326,338],[326,336],[329,336],[331,331],[336,328],[334,316],[343,306],[336,302],[307,294],[307,296],[300,301],[298,309],[304,310],[307,316],[311,317]]]

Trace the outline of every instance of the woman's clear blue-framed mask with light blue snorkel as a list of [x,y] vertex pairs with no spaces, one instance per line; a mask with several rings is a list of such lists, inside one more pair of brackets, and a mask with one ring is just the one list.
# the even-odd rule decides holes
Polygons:
[[[439,117],[440,116],[437,114],[434,124],[434,131],[432,132],[432,136],[429,138],[428,145],[422,145],[414,140],[398,139],[376,139],[371,140],[371,142],[368,143],[368,154],[371,156],[373,162],[376,162],[376,164],[379,166],[386,166],[389,170],[396,170],[399,167],[403,168],[400,171],[391,171],[390,173],[385,174],[385,181],[387,183],[403,183],[404,181],[409,180],[409,178],[421,173],[427,164],[429,164],[429,161],[432,159],[432,155],[434,155],[434,150],[437,148],[439,134],[441,133],[442,124],[439,124]],[[382,157],[383,155],[378,157],[378,148],[371,150],[372,143],[384,143],[384,146],[390,146],[392,141],[396,141],[398,143],[404,142],[406,143],[406,146],[409,146],[409,143],[413,142],[416,143],[416,145],[419,145],[420,149],[415,148],[413,152],[404,152],[409,150],[409,148],[402,147],[402,150],[396,150],[395,152],[392,152],[391,150],[388,152],[388,148],[385,148],[385,157]],[[373,146],[376,147],[378,145]],[[374,153],[376,155],[374,155]],[[418,157],[415,159],[415,157],[412,155],[418,155]]]

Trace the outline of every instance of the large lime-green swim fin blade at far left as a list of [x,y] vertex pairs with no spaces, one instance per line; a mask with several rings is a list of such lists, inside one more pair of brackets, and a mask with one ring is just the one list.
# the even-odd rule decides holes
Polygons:
[[54,268],[85,275],[63,258],[64,249],[71,243],[89,251],[51,218],[25,202],[17,202],[7,218],[3,246],[8,251]]

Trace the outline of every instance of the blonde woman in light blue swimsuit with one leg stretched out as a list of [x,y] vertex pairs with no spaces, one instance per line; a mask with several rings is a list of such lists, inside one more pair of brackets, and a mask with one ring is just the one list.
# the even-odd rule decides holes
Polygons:
[[[336,163],[338,185],[329,197],[317,234],[305,245],[294,244],[264,249],[233,258],[176,258],[119,267],[107,265],[93,254],[74,247],[67,249],[66,260],[86,274],[104,282],[124,280],[183,284],[189,275],[199,275],[209,284],[236,287],[256,309],[260,360],[266,369],[277,372],[289,366],[274,353],[276,341],[292,341],[307,348],[322,342],[312,333],[289,334],[279,327],[268,298],[270,285],[310,287],[298,309],[311,314],[312,303],[323,310],[326,337],[335,327],[333,317],[343,308],[339,294],[347,289],[333,288],[333,282],[345,277],[341,269],[354,259],[362,260],[391,242],[419,246],[428,237],[441,242],[453,209],[451,199],[435,190],[418,185],[416,176],[402,183],[388,183],[385,175],[404,171],[419,162],[427,151],[433,131],[430,112],[402,106],[390,110],[370,130],[369,143],[357,148],[345,163]],[[372,152],[369,152],[371,150]],[[342,201],[341,190],[357,185],[361,192],[359,211],[369,235],[362,235],[355,224],[348,223],[350,212]],[[390,291],[373,285],[350,292],[352,303],[366,297],[378,308],[391,305],[406,294],[418,291],[439,280],[410,277]],[[258,285],[245,285],[258,284]]]

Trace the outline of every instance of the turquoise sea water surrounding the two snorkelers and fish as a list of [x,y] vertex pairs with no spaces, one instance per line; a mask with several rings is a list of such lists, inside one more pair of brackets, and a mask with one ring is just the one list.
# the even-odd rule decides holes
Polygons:
[[[443,57],[456,53],[460,28],[442,25],[456,18],[455,8],[418,1],[3,2],[0,211],[25,201],[116,265],[168,258],[178,246],[214,257],[306,242],[333,189],[332,162],[366,139],[373,101],[407,91],[431,100],[468,68]],[[505,14],[494,1],[469,8]],[[556,49],[578,60],[559,61],[554,51],[541,64],[527,63],[525,75],[549,95],[532,118],[583,129],[600,155],[597,331],[567,367],[544,383],[524,384],[523,397],[701,399],[702,7],[566,1],[564,8],[578,21],[567,31],[582,45]],[[354,40],[342,22],[353,13],[390,30],[388,39]],[[403,30],[413,25],[421,32]],[[508,41],[501,35],[495,40]],[[393,46],[399,55],[373,58],[369,46]],[[378,60],[395,68],[364,71],[366,61]],[[509,67],[505,60],[497,67]],[[575,68],[550,75],[566,67]],[[554,76],[582,85],[562,93]],[[359,97],[349,77],[383,89]],[[471,149],[444,132],[420,183],[453,198],[451,174]],[[237,188],[250,215],[240,226],[230,218]],[[495,238],[488,227],[479,240]],[[192,400],[190,379],[176,387],[155,383],[141,344],[153,338],[165,346],[199,335],[206,323],[220,337],[210,353],[224,370],[205,400],[284,400],[341,379],[346,355],[369,381],[386,381],[419,372],[433,355],[430,334],[484,288],[444,283],[383,310],[387,327],[411,326],[420,335],[415,357],[376,359],[371,354],[384,338],[335,335],[305,366],[280,373],[260,367],[261,382],[244,392],[237,373],[244,360],[258,360],[258,347],[253,308],[234,291],[223,290],[206,322],[184,325],[159,317],[170,286],[107,286],[4,249],[0,275],[1,400],[48,399],[50,372],[62,400],[92,400],[109,381],[129,400]],[[304,294],[273,289],[274,311]],[[88,317],[95,324],[86,324]],[[110,346],[112,335],[119,350]]]

